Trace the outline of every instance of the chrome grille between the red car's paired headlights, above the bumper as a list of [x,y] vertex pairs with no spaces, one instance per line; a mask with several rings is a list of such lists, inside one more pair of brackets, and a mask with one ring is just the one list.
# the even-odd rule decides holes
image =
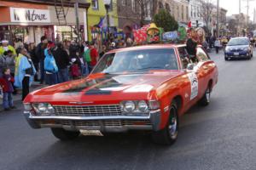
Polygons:
[[120,105],[55,105],[57,116],[120,116]]

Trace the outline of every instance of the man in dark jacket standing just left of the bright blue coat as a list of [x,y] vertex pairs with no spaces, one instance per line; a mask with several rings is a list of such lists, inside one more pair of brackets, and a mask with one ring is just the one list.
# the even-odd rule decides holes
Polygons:
[[38,44],[38,47],[36,48],[36,55],[37,58],[40,60],[40,83],[44,83],[44,49],[47,48],[47,38],[41,37],[41,42]]

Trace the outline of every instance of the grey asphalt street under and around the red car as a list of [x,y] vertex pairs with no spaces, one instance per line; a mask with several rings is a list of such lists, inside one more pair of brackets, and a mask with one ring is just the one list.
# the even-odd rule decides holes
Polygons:
[[256,51],[251,60],[218,65],[211,104],[181,118],[177,142],[153,144],[148,133],[83,136],[60,142],[49,129],[34,130],[22,106],[0,112],[0,169],[256,169]]

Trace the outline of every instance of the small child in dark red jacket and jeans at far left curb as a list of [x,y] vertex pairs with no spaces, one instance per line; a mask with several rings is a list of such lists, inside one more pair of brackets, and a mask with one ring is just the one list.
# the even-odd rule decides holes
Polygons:
[[9,111],[10,109],[15,109],[12,93],[14,88],[12,82],[14,78],[10,75],[9,68],[3,69],[3,77],[0,78],[0,85],[3,88],[3,109],[4,111]]

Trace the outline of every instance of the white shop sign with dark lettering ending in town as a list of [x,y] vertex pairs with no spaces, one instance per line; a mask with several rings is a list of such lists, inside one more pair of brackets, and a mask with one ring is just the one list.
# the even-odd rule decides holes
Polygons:
[[10,8],[11,22],[49,23],[49,10],[33,8]]

